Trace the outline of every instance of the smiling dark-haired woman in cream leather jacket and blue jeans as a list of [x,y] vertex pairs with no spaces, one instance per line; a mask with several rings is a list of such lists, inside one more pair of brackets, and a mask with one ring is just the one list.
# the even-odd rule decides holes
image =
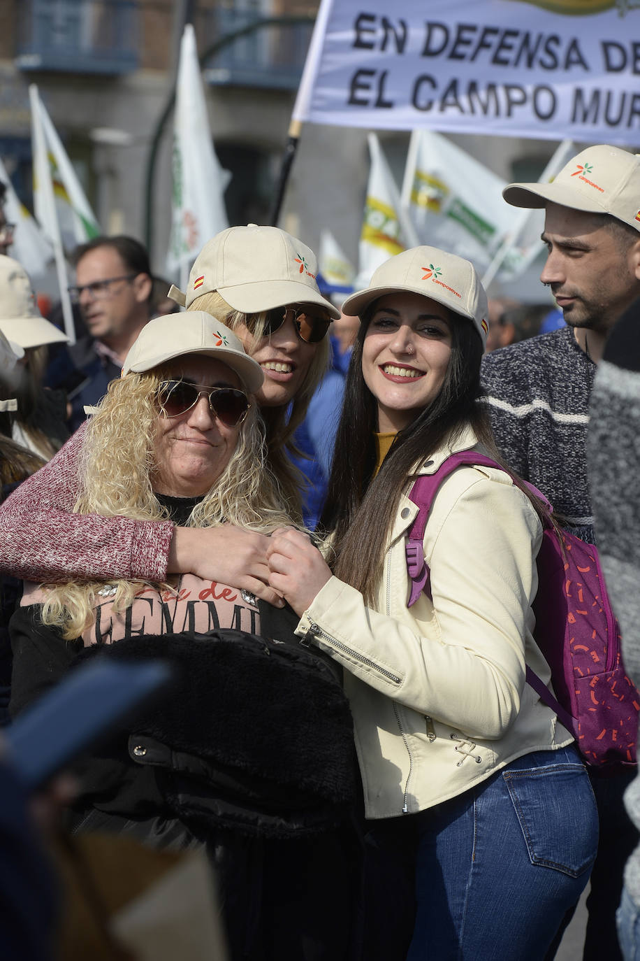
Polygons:
[[[496,462],[478,403],[486,293],[467,260],[417,247],[343,309],[362,323],[320,519],[331,568],[283,530],[271,583],[344,668],[372,837],[415,838],[409,961],[540,961],[587,883],[598,818],[572,734],[525,679],[550,680],[532,633],[541,506]],[[491,466],[453,462],[413,581],[415,478],[466,451]]]

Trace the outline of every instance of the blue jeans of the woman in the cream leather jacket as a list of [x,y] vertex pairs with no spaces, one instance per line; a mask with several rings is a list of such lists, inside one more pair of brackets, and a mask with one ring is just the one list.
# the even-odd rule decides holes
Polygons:
[[526,754],[415,817],[407,961],[540,961],[598,848],[596,801],[575,748]]

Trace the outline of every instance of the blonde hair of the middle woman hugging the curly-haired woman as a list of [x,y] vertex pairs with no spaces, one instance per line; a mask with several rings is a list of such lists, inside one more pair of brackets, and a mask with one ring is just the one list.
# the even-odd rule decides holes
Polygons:
[[[197,297],[187,309],[206,310],[232,331],[237,331],[241,325],[250,327],[253,343],[250,346],[245,345],[249,355],[255,353],[260,340],[265,335],[266,312],[246,314],[234,310],[217,290]],[[261,407],[262,418],[267,429],[267,462],[278,480],[287,509],[297,522],[301,521],[300,490],[304,485],[304,478],[290,459],[290,455],[299,456],[300,453],[294,443],[294,433],[306,416],[309,402],[326,373],[328,363],[329,338],[323,337],[317,345],[309,370],[299,390],[296,391],[291,405]]]

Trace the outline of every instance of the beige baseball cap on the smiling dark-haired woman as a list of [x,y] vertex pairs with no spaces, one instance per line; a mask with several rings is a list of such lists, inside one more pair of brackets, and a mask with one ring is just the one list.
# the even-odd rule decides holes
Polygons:
[[362,317],[365,308],[379,297],[405,290],[431,297],[472,321],[486,345],[488,307],[476,269],[469,260],[438,247],[412,247],[385,260],[366,290],[346,298],[343,313]]

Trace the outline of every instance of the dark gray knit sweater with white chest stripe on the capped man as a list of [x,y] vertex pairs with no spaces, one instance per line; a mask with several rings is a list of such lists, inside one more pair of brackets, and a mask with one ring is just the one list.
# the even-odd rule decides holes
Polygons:
[[487,354],[481,372],[507,463],[549,499],[564,527],[591,544],[586,429],[595,372],[570,327]]

